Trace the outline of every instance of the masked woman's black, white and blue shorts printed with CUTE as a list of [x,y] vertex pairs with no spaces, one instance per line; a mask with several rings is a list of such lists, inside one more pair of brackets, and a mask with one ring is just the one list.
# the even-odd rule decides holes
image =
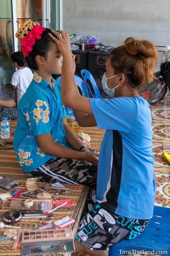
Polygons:
[[90,250],[107,250],[113,243],[139,236],[150,219],[123,217],[96,201],[96,191],[91,189],[75,238]]

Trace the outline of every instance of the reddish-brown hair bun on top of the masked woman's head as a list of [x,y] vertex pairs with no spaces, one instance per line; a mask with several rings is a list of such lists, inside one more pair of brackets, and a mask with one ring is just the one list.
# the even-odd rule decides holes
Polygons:
[[141,55],[145,58],[154,58],[157,56],[157,50],[153,43],[147,40],[137,40],[128,37],[125,41],[125,50],[130,55]]

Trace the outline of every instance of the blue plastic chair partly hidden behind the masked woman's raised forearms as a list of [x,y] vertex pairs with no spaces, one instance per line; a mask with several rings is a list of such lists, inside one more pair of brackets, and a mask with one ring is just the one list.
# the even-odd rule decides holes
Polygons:
[[[88,90],[87,90],[86,85],[85,85],[84,81],[82,80],[82,78],[80,78],[80,76],[75,75],[74,80],[75,80],[75,83],[77,84],[77,86],[80,88],[80,91],[81,91],[82,95],[85,96],[85,97],[89,97]],[[61,76],[58,76],[56,81],[58,83],[60,83],[61,82]],[[66,111],[67,111],[68,115],[74,116],[73,109],[66,107]]]

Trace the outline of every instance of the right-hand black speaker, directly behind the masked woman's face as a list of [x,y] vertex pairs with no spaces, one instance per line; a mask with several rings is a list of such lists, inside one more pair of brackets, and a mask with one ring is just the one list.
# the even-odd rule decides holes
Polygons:
[[102,76],[106,71],[105,65],[110,56],[110,51],[89,51],[88,52],[88,70],[94,77],[102,98],[110,98],[102,89]]

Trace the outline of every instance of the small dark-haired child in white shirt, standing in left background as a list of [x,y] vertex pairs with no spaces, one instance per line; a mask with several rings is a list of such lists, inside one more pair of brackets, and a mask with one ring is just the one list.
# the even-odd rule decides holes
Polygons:
[[24,66],[25,58],[23,52],[14,52],[11,55],[11,59],[13,60],[13,67],[18,69],[16,72],[14,72],[11,78],[11,85],[13,85],[13,88],[16,89],[18,105],[22,95],[26,92],[27,87],[33,79],[33,73],[31,72],[31,69]]

